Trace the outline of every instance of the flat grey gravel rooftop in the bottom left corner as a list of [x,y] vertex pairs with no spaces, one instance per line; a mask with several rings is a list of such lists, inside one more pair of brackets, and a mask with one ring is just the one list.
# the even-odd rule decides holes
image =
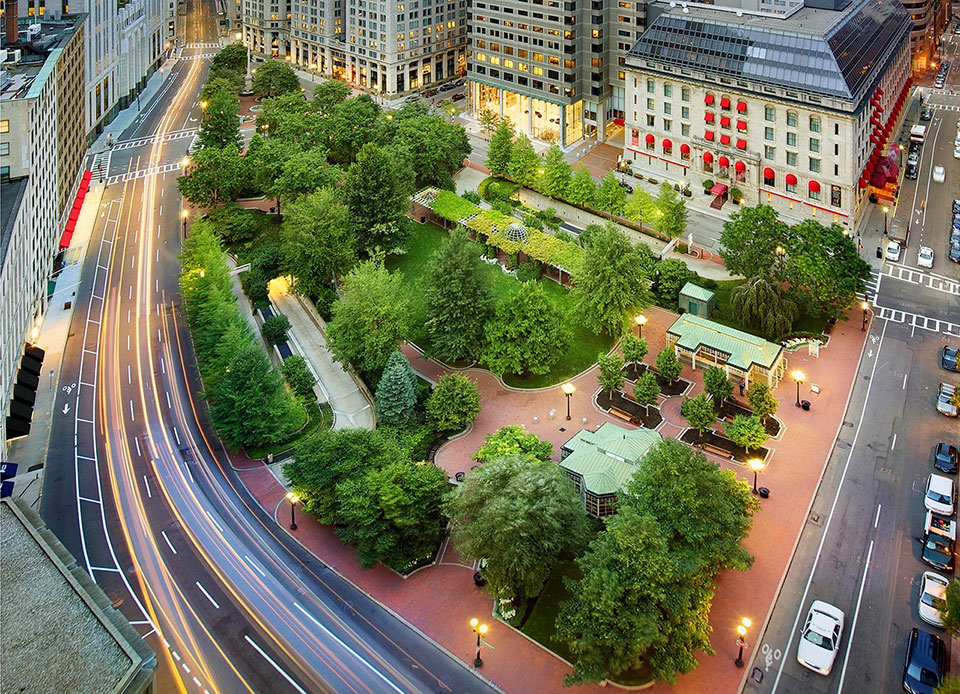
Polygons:
[[[0,502],[0,692],[144,692],[156,658],[40,516]],[[21,689],[25,687],[25,689]]]

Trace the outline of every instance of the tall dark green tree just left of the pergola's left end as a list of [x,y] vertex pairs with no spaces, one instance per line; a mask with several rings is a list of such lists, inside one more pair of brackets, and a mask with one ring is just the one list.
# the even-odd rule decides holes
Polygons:
[[401,180],[398,173],[387,152],[372,143],[360,149],[347,171],[343,184],[347,207],[360,247],[368,253],[402,244],[403,212],[413,182]]

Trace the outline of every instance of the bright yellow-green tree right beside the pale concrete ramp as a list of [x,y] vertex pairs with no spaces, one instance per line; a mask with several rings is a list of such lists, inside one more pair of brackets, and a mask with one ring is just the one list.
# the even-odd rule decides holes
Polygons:
[[368,260],[346,276],[342,295],[327,326],[333,358],[360,373],[378,373],[407,331],[403,278]]

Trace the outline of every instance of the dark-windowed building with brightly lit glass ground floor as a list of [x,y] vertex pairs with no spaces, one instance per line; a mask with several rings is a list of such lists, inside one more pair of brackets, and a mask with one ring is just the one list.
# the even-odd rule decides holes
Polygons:
[[623,125],[624,59],[642,0],[474,0],[467,19],[470,107],[561,146]]

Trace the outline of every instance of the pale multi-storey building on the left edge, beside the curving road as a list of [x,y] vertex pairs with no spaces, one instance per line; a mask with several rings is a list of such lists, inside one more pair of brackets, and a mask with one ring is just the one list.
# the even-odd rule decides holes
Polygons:
[[[7,426],[11,410],[29,422],[29,393],[17,398],[19,405],[10,398],[24,380],[17,373],[21,357],[47,307],[47,282],[86,149],[86,15],[34,23],[20,36],[16,15],[7,19],[10,40],[0,48],[0,450],[8,436],[25,433],[26,427]],[[27,382],[33,380],[20,387],[35,390]]]

